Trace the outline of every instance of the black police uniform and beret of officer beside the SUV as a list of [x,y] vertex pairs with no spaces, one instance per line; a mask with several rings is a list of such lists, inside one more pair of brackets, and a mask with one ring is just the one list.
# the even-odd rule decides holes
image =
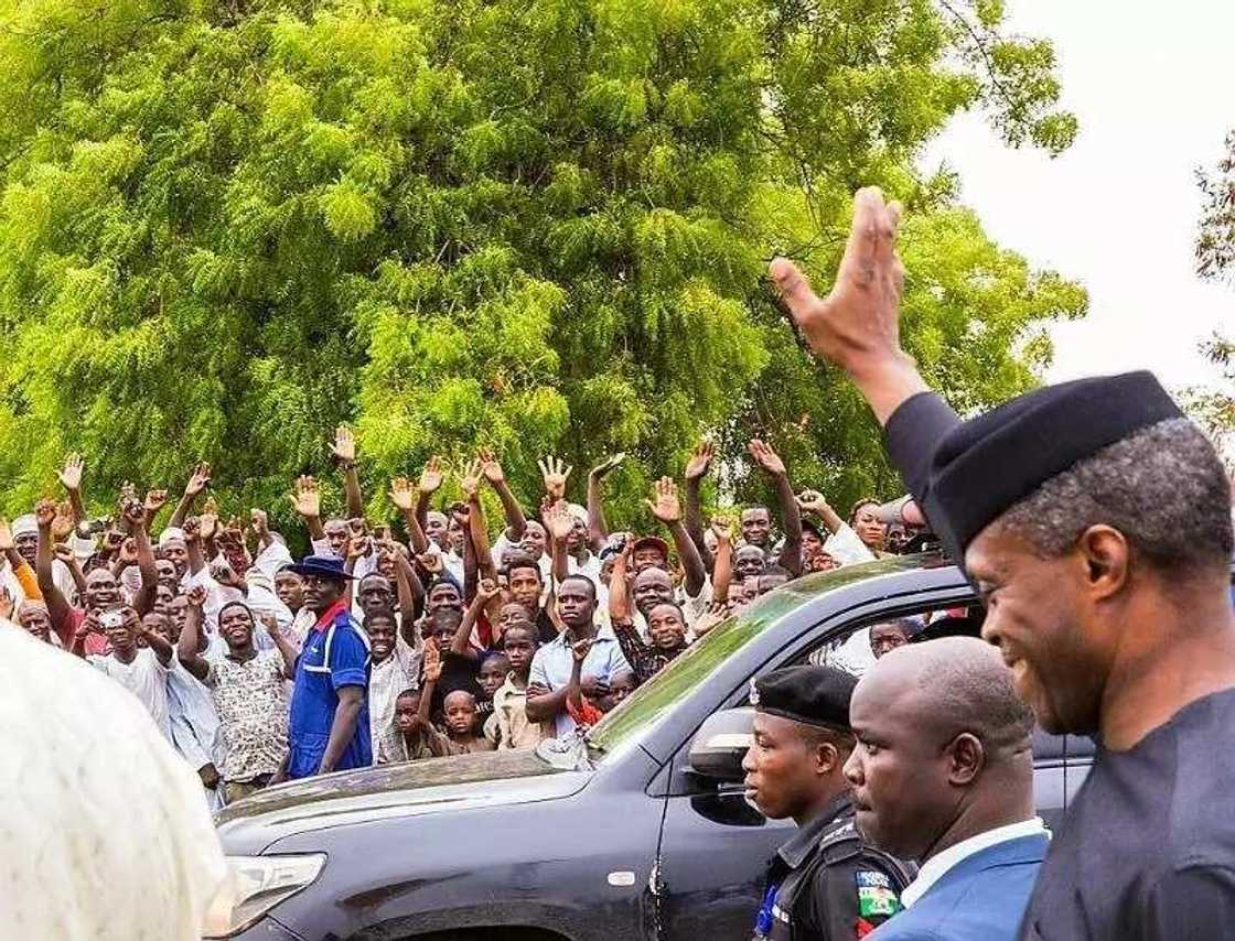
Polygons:
[[[752,684],[751,703],[808,725],[848,730],[856,679],[835,667],[788,667]],[[848,793],[782,846],[768,866],[753,941],[850,941],[900,910],[914,868],[863,843]]]

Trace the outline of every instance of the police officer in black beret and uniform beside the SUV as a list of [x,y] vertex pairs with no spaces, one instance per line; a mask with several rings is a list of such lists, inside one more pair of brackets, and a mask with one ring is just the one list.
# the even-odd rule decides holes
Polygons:
[[768,868],[756,939],[860,939],[900,910],[910,872],[853,826],[844,768],[856,683],[835,667],[788,667],[753,683],[747,797],[764,816],[799,826]]

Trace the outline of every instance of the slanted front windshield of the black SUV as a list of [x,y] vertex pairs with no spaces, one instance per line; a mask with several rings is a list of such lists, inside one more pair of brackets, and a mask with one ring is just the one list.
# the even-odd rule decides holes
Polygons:
[[763,595],[693,643],[598,722],[587,735],[592,761],[604,763],[636,745],[690,690],[705,683],[730,655],[745,647],[788,611],[853,582],[892,571],[919,568],[926,558],[902,556],[895,561],[846,566],[795,579]]

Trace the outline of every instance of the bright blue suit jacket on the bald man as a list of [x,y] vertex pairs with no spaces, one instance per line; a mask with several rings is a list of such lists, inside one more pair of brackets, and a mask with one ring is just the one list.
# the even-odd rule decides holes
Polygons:
[[961,859],[868,941],[1015,941],[1049,846],[1021,836]]

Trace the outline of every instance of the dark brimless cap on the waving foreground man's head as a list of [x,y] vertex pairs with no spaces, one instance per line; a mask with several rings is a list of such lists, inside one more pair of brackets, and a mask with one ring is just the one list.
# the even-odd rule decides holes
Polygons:
[[1182,417],[1147,372],[1035,389],[961,422],[931,458],[929,491],[962,552],[988,524],[1070,467],[1160,421]]

